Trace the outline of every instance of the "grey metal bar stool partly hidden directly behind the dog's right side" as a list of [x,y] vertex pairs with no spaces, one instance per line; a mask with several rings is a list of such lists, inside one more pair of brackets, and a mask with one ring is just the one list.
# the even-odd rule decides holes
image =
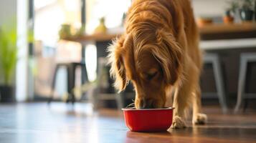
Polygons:
[[216,96],[217,94],[219,99],[219,104],[222,107],[222,112],[226,113],[227,112],[226,92],[224,89],[222,67],[219,61],[219,55],[204,54],[204,64],[212,64],[213,71],[214,71],[215,85],[217,88],[217,93],[214,93],[214,96]]

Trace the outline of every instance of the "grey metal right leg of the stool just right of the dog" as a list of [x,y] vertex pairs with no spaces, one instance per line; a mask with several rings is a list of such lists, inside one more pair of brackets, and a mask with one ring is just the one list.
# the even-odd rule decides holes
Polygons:
[[214,61],[212,63],[214,69],[214,77],[217,87],[217,95],[219,97],[219,104],[222,106],[222,112],[227,113],[227,102],[226,102],[226,94],[224,91],[224,82],[222,77],[222,68],[220,66],[219,57],[215,56]]

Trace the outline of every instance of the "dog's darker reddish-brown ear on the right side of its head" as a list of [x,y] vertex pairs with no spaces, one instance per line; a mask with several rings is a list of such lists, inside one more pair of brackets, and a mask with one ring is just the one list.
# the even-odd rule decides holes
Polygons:
[[163,77],[166,80],[166,84],[173,85],[178,79],[182,79],[182,49],[174,39],[174,36],[168,31],[157,30],[156,41],[161,46],[158,48],[156,58],[161,64]]

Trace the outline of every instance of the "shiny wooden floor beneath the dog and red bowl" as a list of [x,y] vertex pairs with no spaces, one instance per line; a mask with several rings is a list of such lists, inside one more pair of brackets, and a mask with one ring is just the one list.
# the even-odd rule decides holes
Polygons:
[[130,132],[122,112],[90,104],[0,104],[0,142],[256,142],[256,114],[221,114],[204,107],[209,124],[169,132]]

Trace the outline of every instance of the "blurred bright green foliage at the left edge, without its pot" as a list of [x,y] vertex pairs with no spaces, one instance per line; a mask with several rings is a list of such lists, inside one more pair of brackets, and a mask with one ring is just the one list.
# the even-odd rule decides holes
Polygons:
[[11,77],[17,59],[16,26],[10,25],[2,25],[0,29],[0,71],[4,77],[5,85],[11,84]]

